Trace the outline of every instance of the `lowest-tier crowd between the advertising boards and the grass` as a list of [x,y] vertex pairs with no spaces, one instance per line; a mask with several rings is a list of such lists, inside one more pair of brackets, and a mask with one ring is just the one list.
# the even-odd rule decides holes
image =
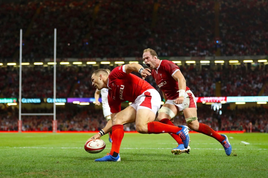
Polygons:
[[[106,125],[102,109],[93,106],[57,109],[57,130],[60,131],[98,131]],[[18,130],[18,110],[1,108],[0,131]],[[48,109],[25,110],[24,113],[47,113]],[[50,111],[53,113],[53,111]],[[216,131],[244,131],[268,133],[268,109],[264,107],[250,107],[234,110],[223,110],[219,115],[210,106],[198,107],[198,120],[200,123],[209,125]],[[22,131],[52,131],[53,116],[22,115]],[[183,115],[174,118],[175,125],[186,125]],[[124,125],[125,131],[135,131],[135,123]]]

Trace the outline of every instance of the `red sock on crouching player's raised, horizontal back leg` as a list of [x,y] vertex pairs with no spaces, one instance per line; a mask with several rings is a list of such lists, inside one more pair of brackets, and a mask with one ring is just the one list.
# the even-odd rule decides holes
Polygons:
[[148,123],[148,133],[174,133],[177,134],[178,131],[180,131],[182,128],[179,128],[177,126],[163,124],[161,122],[149,122]]

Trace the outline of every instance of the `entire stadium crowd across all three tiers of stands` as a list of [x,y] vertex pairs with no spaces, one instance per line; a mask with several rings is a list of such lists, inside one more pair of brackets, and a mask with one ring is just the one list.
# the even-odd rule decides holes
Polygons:
[[[219,7],[215,3],[219,2]],[[112,1],[27,0],[0,3],[0,62],[17,62],[19,30],[23,30],[23,62],[53,58],[57,28],[57,58],[138,57],[145,48],[165,56],[268,55],[266,0]],[[219,14],[218,21],[215,14]],[[219,28],[219,30],[218,30]],[[268,96],[268,65],[231,67],[181,66],[196,97]],[[107,66],[105,66],[107,67]],[[57,67],[57,98],[94,97],[93,66]],[[112,67],[110,67],[112,69]],[[1,67],[0,98],[19,97],[19,68]],[[146,79],[160,90],[151,77]],[[220,83],[220,88],[217,84]],[[53,67],[23,67],[22,98],[53,98]],[[70,107],[70,106],[66,106]],[[198,108],[199,121],[214,130],[268,132],[267,108],[226,110],[222,115]],[[34,109],[31,113],[48,112]],[[1,104],[0,130],[17,130],[18,111]],[[24,131],[51,131],[52,116],[23,116]],[[57,110],[59,131],[92,131],[106,123],[101,110]],[[175,118],[185,125],[183,116]],[[125,126],[135,130],[135,124]]]

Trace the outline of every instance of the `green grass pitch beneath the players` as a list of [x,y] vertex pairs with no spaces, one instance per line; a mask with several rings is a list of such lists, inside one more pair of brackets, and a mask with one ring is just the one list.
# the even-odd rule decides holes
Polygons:
[[0,133],[0,177],[268,177],[268,134],[226,134],[233,151],[203,134],[190,133],[190,154],[173,155],[168,134],[125,133],[121,162],[95,162],[111,149],[90,154],[85,141],[93,133]]

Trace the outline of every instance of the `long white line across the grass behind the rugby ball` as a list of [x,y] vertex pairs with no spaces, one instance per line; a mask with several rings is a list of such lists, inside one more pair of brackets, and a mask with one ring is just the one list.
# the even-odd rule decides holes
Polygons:
[[[84,149],[83,147],[10,147],[10,146],[5,146],[5,147],[0,147],[0,148],[15,148],[15,149]],[[106,147],[107,149],[111,149]],[[173,148],[120,148],[123,150],[172,150]],[[191,150],[224,150],[223,148],[191,148]],[[254,149],[233,149],[233,150],[268,150],[266,148],[254,148]]]

